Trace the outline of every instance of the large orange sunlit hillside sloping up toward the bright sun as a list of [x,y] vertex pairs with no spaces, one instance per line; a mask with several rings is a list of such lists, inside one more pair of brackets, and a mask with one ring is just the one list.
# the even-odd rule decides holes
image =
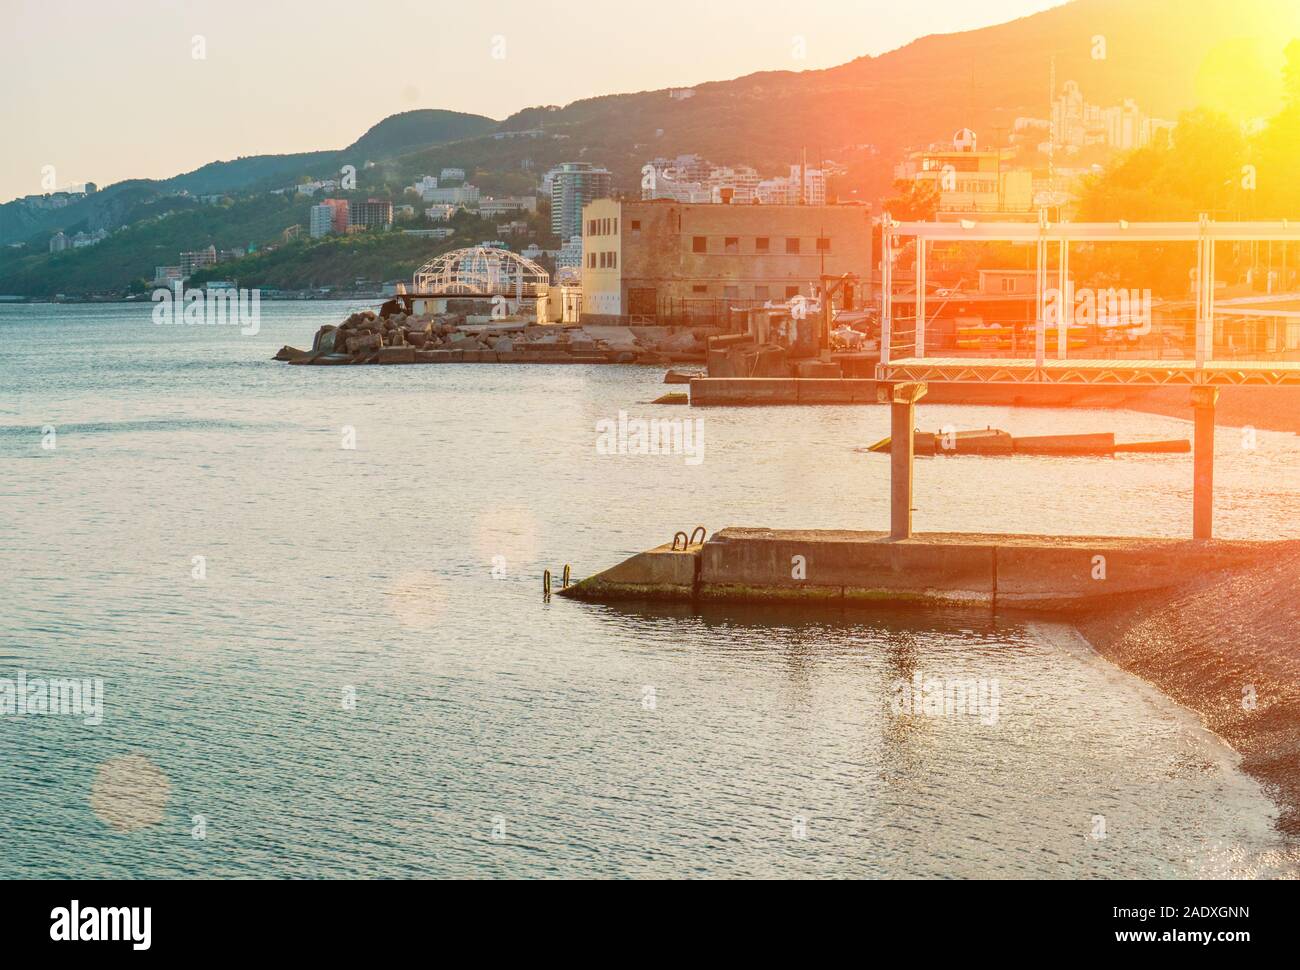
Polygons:
[[[1200,100],[1236,107],[1221,103],[1231,88],[1243,109],[1268,114],[1282,48],[1296,35],[1300,9],[1290,0],[1076,0],[828,70],[699,85],[689,100],[651,91],[576,101],[547,112],[545,124],[611,165],[623,185],[634,185],[653,155],[699,152],[775,170],[807,148],[810,159],[848,164],[848,191],[874,200],[907,148],[946,142],[963,126],[1005,143],[1017,117],[1046,117],[1053,57],[1058,85],[1078,81],[1093,103],[1132,98],[1173,120]],[[1098,36],[1104,60],[1093,59]],[[879,153],[855,147],[863,144]]]

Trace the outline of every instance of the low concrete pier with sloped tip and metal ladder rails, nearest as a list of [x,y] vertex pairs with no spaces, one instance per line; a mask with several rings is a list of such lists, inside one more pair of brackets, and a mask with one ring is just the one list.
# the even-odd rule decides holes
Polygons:
[[1175,589],[1278,550],[1300,544],[729,528],[638,553],[563,596],[1078,611]]

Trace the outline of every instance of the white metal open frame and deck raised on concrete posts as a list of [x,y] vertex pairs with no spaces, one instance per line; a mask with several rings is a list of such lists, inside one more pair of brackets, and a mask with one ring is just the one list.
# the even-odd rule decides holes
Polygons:
[[[881,381],[976,381],[983,384],[1300,384],[1296,361],[1216,361],[1214,348],[1214,244],[1219,242],[1300,242],[1300,222],[1050,222],[1046,212],[1034,222],[894,222],[885,213],[881,224]],[[916,241],[915,350],[910,358],[893,360],[893,265],[894,239]],[[1032,359],[926,358],[926,269],[932,242],[1010,242],[1037,247],[1035,286],[1035,341]],[[1071,242],[1186,242],[1196,244],[1196,359],[1195,360],[1069,360],[1069,324],[1054,326],[1056,358],[1046,355],[1049,290],[1067,290]],[[1049,247],[1058,250],[1057,280],[1048,267]],[[1063,313],[1072,311],[1069,302]],[[1069,363],[1067,363],[1069,361]]]

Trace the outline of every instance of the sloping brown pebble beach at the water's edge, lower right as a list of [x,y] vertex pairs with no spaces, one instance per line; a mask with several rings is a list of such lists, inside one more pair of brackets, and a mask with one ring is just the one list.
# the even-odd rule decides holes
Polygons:
[[1074,618],[1092,648],[1195,711],[1300,836],[1300,554]]

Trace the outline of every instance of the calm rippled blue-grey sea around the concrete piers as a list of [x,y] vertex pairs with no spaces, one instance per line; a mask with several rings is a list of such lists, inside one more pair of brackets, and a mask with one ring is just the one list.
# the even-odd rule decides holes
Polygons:
[[[263,304],[244,337],[0,307],[0,677],[104,683],[98,724],[0,716],[0,876],[1296,872],[1232,753],[1067,629],[542,602],[543,568],[697,524],[885,528],[888,460],[855,450],[884,410],[650,406],[658,368],[269,360],[348,309]],[[705,460],[597,454],[620,410],[703,419]],[[1242,438],[1219,533],[1300,536],[1300,438]],[[1183,536],[1191,464],[927,460],[916,505],[922,531]],[[997,709],[900,711],[915,676]]]

